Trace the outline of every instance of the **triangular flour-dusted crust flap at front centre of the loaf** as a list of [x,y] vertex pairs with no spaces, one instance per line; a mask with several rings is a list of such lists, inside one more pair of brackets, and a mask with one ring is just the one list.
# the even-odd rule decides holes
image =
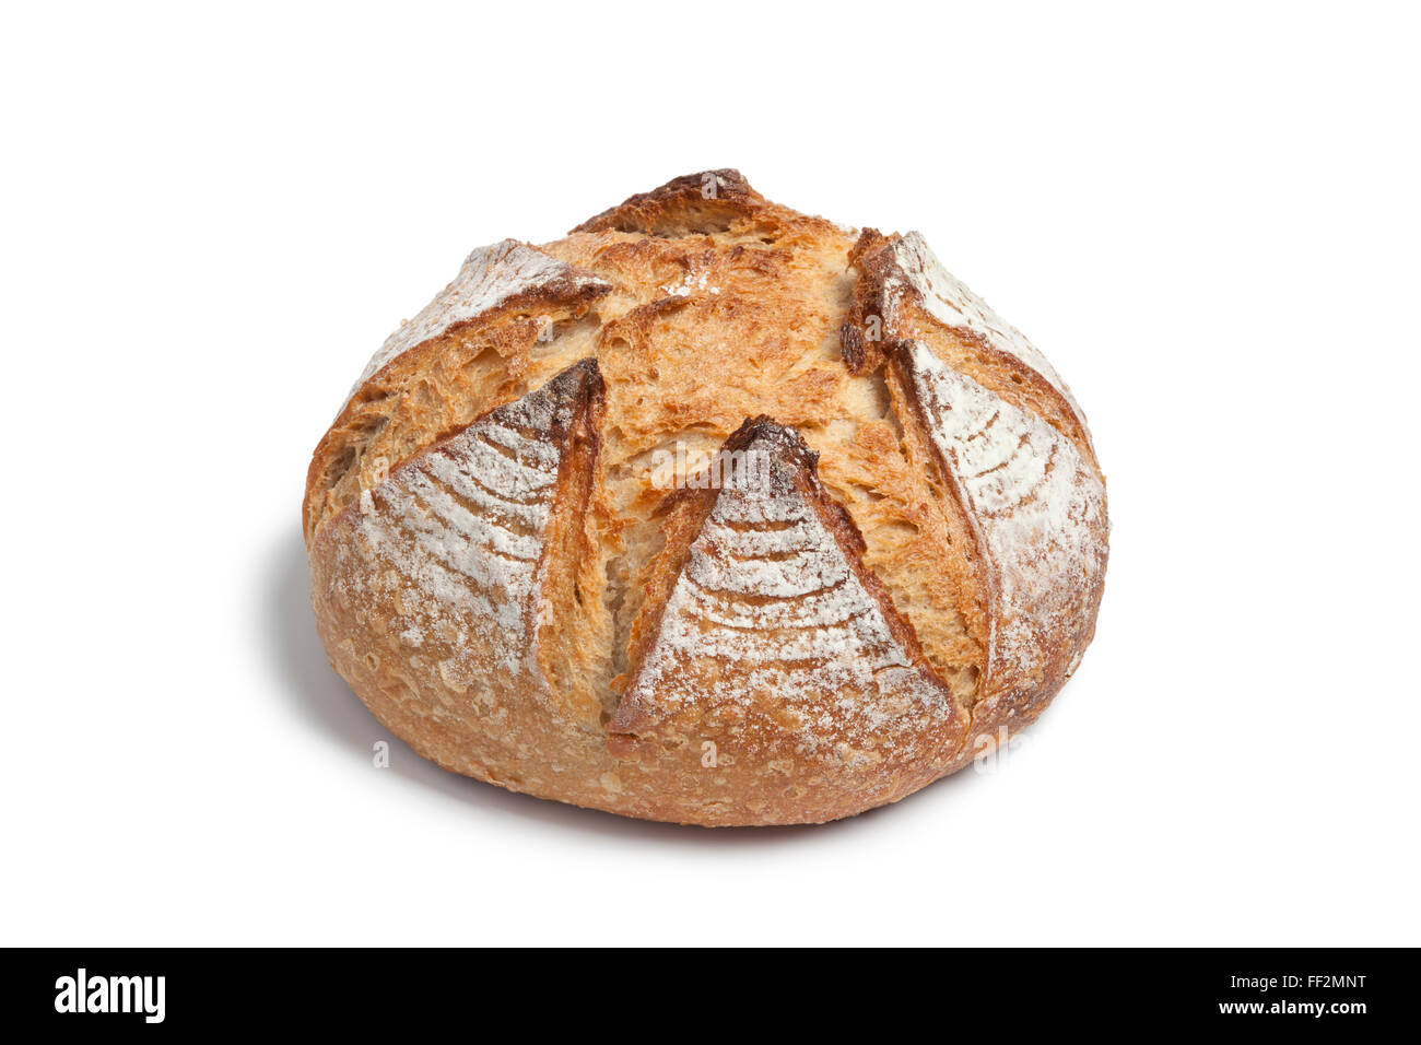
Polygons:
[[921,751],[953,719],[951,694],[826,526],[813,455],[772,424],[737,452],[764,462],[762,475],[715,496],[611,729],[720,719],[730,751],[847,762]]

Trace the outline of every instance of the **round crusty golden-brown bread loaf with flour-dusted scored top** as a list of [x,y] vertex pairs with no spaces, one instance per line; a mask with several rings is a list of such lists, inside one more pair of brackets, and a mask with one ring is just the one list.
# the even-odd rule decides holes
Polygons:
[[1034,719],[1108,522],[1070,390],[919,235],[709,171],[469,254],[304,530],[331,664],[421,755],[719,826],[895,802]]

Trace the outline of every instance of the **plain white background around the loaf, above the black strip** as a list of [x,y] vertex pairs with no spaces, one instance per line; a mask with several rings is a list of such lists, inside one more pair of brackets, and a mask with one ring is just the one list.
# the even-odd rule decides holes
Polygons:
[[[1415,9],[7,9],[7,944],[1418,944]],[[306,465],[504,236],[681,173],[919,229],[1090,417],[1098,636],[995,772],[706,832],[330,671]]]

